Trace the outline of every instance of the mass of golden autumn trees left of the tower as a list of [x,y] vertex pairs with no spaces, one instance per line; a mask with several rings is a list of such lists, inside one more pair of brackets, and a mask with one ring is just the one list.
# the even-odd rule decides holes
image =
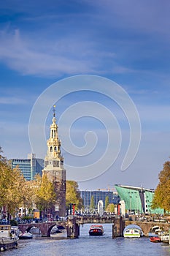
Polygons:
[[46,175],[37,175],[34,181],[26,181],[19,167],[8,164],[0,147],[0,208],[5,206],[8,215],[15,215],[20,207],[50,208],[55,203],[54,185]]

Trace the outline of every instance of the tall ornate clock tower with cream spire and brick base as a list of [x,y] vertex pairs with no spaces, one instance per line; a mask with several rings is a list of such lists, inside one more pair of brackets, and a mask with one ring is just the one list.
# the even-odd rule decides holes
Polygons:
[[51,209],[53,217],[65,217],[66,215],[66,170],[63,167],[61,155],[61,140],[58,139],[58,125],[55,118],[55,106],[53,107],[53,119],[50,125],[50,138],[47,140],[47,155],[45,168],[42,173],[55,185],[56,202]]

